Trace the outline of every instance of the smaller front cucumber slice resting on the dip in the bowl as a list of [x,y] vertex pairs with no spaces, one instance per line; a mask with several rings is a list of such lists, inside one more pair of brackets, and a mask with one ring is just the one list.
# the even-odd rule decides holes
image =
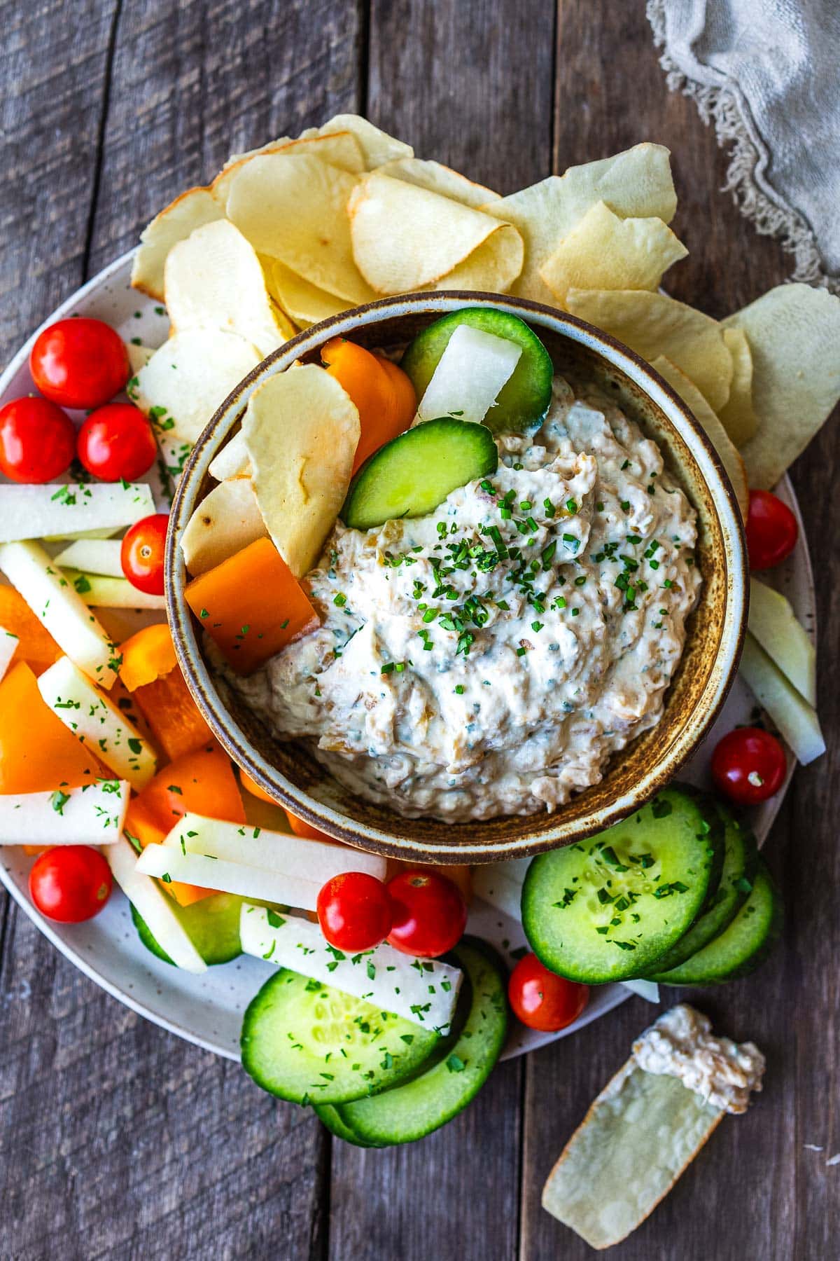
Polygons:
[[497,468],[499,448],[485,425],[427,420],[385,443],[361,465],[341,520],[354,530],[372,530],[400,517],[424,517],[457,487]]

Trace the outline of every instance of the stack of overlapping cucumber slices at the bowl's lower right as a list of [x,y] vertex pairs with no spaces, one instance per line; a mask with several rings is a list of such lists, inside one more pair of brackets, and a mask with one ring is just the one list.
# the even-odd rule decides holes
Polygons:
[[671,784],[587,841],[534,859],[523,928],[553,972],[589,985],[714,985],[763,962],[782,900],[735,816]]

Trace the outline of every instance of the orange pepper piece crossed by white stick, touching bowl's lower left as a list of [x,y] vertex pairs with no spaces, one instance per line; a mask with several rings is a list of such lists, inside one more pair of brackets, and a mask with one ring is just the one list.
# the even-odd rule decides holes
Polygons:
[[[186,813],[244,823],[246,812],[230,759],[208,744],[170,762],[128,805],[125,831],[146,845],[161,845],[175,821]],[[173,880],[164,888],[181,907],[208,898],[214,889]]]

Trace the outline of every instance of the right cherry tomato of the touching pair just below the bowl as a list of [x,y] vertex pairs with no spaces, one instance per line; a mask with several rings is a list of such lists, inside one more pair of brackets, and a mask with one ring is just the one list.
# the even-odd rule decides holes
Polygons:
[[394,923],[388,943],[404,955],[434,958],[452,950],[467,922],[457,885],[437,871],[400,871],[388,881]]

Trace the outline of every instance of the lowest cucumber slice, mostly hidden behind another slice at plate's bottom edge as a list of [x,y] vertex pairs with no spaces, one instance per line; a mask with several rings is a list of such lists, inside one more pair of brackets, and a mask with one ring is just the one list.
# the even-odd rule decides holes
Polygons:
[[470,979],[472,1002],[461,1035],[445,1059],[395,1090],[336,1111],[350,1141],[370,1146],[413,1142],[457,1116],[484,1086],[508,1033],[506,984],[489,955],[470,938],[452,952]]

